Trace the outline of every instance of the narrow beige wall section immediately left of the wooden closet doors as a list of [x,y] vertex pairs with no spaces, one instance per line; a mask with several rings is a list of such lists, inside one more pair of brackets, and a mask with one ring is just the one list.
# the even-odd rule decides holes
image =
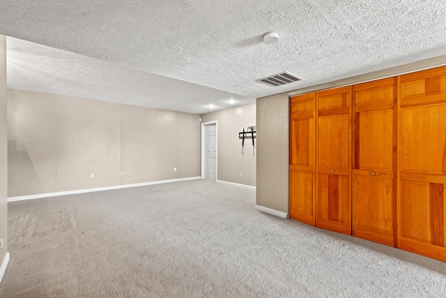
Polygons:
[[288,214],[289,96],[257,98],[256,204]]

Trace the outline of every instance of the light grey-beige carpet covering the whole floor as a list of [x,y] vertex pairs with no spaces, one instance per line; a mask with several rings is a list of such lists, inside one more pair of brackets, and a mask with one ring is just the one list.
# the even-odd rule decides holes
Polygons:
[[184,181],[9,203],[0,297],[446,297],[446,264]]

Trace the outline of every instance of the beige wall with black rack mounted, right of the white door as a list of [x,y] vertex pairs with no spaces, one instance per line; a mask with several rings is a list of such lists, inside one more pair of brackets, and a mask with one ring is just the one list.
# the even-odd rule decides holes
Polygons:
[[[238,133],[243,126],[256,125],[256,104],[232,107],[201,115],[201,122],[217,121],[217,179],[248,186],[256,186],[256,152],[252,154],[252,139],[242,140]],[[246,128],[245,128],[246,130]],[[257,147],[256,140],[254,140]],[[240,178],[242,173],[242,178]]]

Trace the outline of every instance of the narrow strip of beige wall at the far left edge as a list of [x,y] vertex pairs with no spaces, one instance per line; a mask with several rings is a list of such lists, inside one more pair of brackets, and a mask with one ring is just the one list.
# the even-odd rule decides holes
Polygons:
[[0,266],[8,251],[8,150],[6,119],[6,36],[0,35]]

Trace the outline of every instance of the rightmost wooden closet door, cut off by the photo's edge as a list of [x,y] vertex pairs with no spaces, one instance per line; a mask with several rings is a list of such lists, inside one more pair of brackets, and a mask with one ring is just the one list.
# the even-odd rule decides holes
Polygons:
[[398,247],[446,262],[446,67],[399,80]]

